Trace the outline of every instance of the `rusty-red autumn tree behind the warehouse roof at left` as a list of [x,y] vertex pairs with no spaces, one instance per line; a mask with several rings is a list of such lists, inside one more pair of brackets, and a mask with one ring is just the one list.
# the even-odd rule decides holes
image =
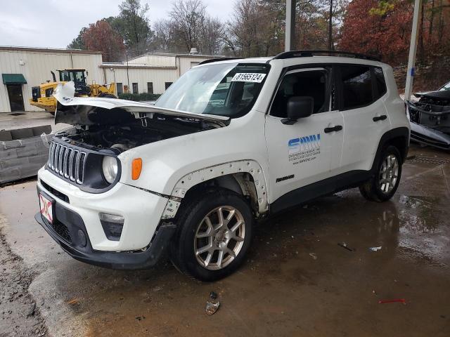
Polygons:
[[117,62],[125,51],[122,37],[105,20],[91,23],[83,33],[86,50],[101,51],[104,62]]

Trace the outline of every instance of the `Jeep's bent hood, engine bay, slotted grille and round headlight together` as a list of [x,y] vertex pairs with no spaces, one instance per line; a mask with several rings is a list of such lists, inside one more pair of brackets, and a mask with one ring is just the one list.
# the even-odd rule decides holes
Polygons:
[[[113,98],[77,98],[72,82],[59,85],[55,123],[71,124],[55,133],[49,145],[46,170],[77,185],[102,193],[121,176],[127,156],[123,152],[169,138],[221,128],[229,118],[193,114],[147,103]],[[125,161],[124,161],[125,160]]]

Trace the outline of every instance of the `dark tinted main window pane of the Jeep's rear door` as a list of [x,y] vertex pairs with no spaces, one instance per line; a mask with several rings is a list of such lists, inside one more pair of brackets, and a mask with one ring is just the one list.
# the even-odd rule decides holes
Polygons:
[[364,107],[373,102],[371,67],[341,65],[342,110]]

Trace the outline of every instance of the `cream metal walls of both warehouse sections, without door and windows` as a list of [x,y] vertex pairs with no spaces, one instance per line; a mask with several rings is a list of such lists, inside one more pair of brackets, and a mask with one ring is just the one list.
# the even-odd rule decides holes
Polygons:
[[[193,55],[143,55],[129,61],[129,92],[132,92],[133,83],[138,84],[139,93],[147,92],[147,83],[153,83],[153,93],[164,93],[165,83],[174,82],[191,67],[199,62],[212,58],[211,56]],[[21,65],[23,63],[23,65]],[[88,71],[87,81],[92,84],[110,84],[114,81],[128,84],[126,62],[122,65],[102,65],[99,53],[77,53],[55,50],[32,50],[25,48],[0,48],[0,74],[23,74],[27,84],[23,84],[23,100],[25,110],[43,111],[30,105],[32,86],[45,81],[52,81],[51,70],[82,68]],[[136,68],[138,67],[139,68]],[[110,70],[113,67],[114,72]],[[135,68],[133,68],[135,67]],[[158,68],[160,67],[160,68]],[[165,68],[166,67],[166,68]],[[58,73],[56,73],[58,76]],[[0,112],[10,112],[6,85],[0,82]]]

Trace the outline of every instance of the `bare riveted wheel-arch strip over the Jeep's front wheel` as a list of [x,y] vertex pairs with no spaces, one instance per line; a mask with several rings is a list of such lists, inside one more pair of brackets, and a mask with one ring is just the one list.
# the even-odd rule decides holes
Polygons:
[[255,160],[245,159],[238,161],[228,161],[223,164],[205,167],[204,169],[196,170],[187,173],[180,178],[170,194],[169,200],[162,213],[162,219],[174,218],[176,211],[178,211],[181,204],[181,199],[184,198],[188,190],[195,185],[203,183],[207,180],[212,180],[221,176],[233,175],[235,173],[249,173],[255,182],[255,190],[257,193],[257,207],[259,213],[266,213],[269,211],[269,202],[267,200],[267,185],[264,172],[261,165]]

